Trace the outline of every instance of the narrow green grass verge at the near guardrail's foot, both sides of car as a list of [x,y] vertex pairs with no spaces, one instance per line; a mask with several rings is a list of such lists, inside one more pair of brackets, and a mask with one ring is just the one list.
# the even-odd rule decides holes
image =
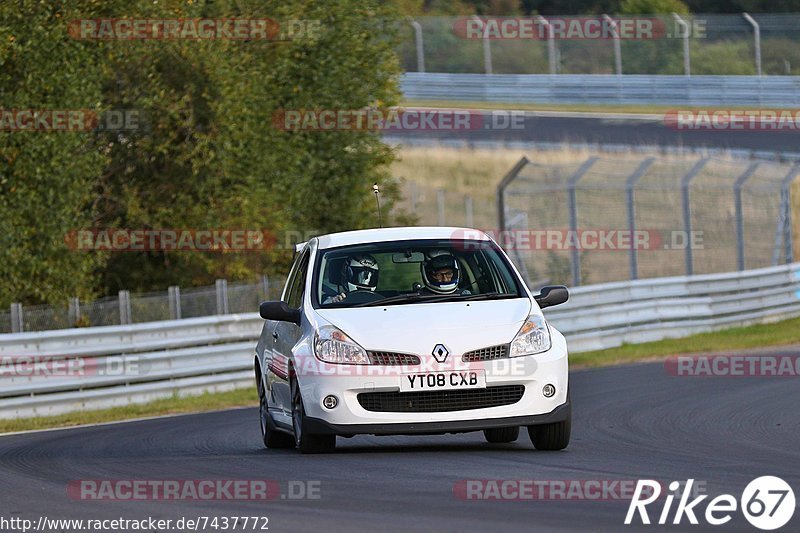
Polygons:
[[[570,356],[570,365],[573,369],[601,367],[659,359],[677,354],[741,351],[751,348],[767,348],[791,344],[800,344],[800,318],[771,324],[757,324],[711,333],[701,333],[681,339],[626,344],[618,348],[576,353]],[[146,404],[128,405],[98,411],[79,411],[42,418],[0,420],[0,433],[97,424],[150,416],[213,411],[232,407],[255,407],[256,405],[258,405],[258,397],[255,387],[248,387],[185,398],[173,396],[172,398],[156,400]],[[253,423],[255,424],[255,420]]]

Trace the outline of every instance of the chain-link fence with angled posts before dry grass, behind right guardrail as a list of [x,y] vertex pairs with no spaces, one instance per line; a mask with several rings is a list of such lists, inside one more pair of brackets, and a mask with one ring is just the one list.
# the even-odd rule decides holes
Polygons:
[[496,238],[534,287],[790,263],[798,176],[798,164],[712,157],[523,158],[498,188]]

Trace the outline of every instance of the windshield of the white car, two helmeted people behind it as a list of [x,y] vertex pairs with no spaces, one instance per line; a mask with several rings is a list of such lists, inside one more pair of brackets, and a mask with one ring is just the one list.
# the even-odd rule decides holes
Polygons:
[[525,295],[490,241],[416,240],[320,250],[315,308],[367,307]]

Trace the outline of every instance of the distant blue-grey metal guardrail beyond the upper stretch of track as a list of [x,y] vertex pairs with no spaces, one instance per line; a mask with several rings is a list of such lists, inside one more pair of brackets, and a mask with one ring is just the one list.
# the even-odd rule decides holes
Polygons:
[[437,74],[407,72],[410,100],[598,105],[800,105],[798,76],[656,76],[604,74]]

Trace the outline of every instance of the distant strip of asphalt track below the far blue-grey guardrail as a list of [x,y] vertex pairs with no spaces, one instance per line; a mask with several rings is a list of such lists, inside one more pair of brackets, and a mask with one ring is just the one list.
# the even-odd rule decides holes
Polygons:
[[[484,114],[485,115],[485,114]],[[493,129],[487,118],[479,129],[398,130],[393,142],[496,141],[634,146],[691,147],[766,152],[800,152],[798,130],[678,130],[663,116],[602,115],[592,113],[526,112],[522,127]]]

